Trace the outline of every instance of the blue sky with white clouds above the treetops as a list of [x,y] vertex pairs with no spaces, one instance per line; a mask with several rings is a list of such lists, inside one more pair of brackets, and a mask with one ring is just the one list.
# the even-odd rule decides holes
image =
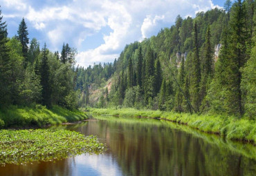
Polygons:
[[178,14],[221,8],[225,0],[0,0],[8,37],[24,17],[29,39],[51,51],[63,43],[77,49],[76,64],[112,62],[129,43],[170,28]]

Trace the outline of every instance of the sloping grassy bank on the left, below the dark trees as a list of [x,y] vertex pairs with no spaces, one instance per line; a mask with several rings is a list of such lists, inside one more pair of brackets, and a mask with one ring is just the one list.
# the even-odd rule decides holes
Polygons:
[[85,113],[60,106],[53,106],[51,109],[40,105],[35,107],[9,106],[0,109],[0,128],[42,127],[48,124],[62,124],[82,119],[87,119]]

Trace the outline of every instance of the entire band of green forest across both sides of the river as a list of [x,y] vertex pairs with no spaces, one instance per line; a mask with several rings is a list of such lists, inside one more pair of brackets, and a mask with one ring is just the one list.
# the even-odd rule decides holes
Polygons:
[[[176,17],[125,46],[113,63],[75,68],[75,48],[51,52],[28,39],[25,19],[8,38],[0,19],[1,106],[148,108],[255,118],[255,1]],[[30,41],[30,42],[29,42]],[[107,86],[106,86],[107,85]]]

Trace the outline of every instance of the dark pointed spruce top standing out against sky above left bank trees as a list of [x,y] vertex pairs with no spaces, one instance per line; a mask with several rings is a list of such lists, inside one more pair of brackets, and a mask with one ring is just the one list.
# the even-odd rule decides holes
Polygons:
[[23,52],[23,56],[25,58],[25,63],[24,66],[26,67],[27,63],[28,63],[28,43],[29,43],[29,39],[28,39],[28,30],[27,30],[27,25],[25,22],[25,19],[23,18],[21,20],[21,23],[19,24],[19,30],[18,30],[18,39],[21,42],[22,45],[22,52]]

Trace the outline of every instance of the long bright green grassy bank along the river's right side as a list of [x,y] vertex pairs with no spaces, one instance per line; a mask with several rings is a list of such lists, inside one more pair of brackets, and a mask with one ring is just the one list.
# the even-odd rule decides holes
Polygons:
[[256,121],[249,119],[238,119],[237,117],[224,115],[190,115],[188,113],[172,113],[160,110],[136,110],[133,108],[118,110],[91,108],[90,113],[167,119],[179,124],[187,124],[205,133],[219,134],[226,139],[250,141],[253,144],[256,141]]

